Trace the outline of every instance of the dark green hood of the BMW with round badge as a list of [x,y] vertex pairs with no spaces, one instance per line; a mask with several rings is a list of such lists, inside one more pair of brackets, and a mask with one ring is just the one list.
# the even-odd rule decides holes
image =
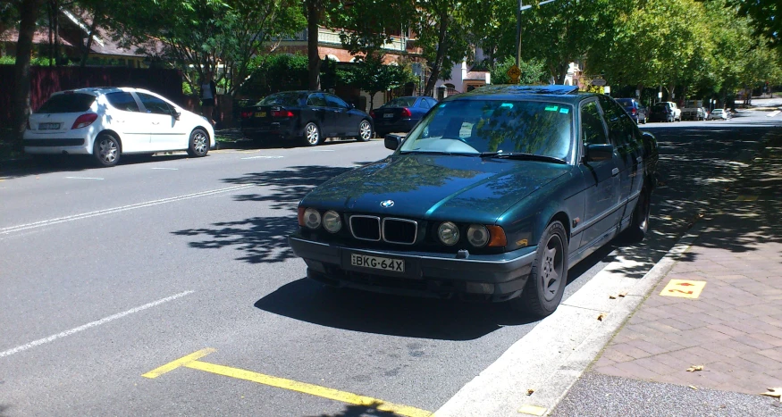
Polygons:
[[392,155],[329,180],[308,194],[302,205],[349,213],[493,223],[513,204],[570,169],[569,165],[540,161]]

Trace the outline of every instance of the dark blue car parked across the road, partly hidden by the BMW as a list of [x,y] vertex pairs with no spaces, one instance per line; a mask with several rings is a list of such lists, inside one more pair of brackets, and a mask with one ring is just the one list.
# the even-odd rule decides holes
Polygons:
[[369,112],[374,120],[374,131],[381,137],[387,133],[408,132],[434,104],[437,100],[427,96],[394,98]]

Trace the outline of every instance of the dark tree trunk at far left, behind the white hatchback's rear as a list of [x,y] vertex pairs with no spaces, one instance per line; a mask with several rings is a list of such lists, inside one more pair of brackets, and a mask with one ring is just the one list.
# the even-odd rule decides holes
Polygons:
[[11,111],[13,114],[13,131],[15,145],[21,149],[21,136],[29,117],[29,59],[32,52],[32,38],[35,34],[35,22],[38,18],[38,8],[43,0],[22,0],[19,5],[19,38],[16,41],[16,64],[14,68],[13,94],[11,96]]

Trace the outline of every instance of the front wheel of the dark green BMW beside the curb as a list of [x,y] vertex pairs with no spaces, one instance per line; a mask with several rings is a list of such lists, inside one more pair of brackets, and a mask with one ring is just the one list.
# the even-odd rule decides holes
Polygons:
[[554,313],[568,284],[568,238],[565,227],[552,221],[543,232],[529,278],[514,307],[543,318]]

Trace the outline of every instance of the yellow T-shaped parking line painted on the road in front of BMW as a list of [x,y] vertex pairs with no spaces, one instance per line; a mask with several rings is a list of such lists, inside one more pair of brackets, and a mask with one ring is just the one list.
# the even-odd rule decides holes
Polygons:
[[279,377],[273,377],[271,375],[265,375],[263,373],[257,373],[253,371],[245,371],[239,368],[231,368],[229,366],[218,365],[214,363],[206,363],[198,361],[199,358],[211,354],[214,352],[213,348],[201,349],[196,353],[188,354],[172,363],[166,363],[163,366],[148,371],[143,377],[157,378],[163,375],[165,372],[173,371],[181,366],[216,375],[223,375],[225,377],[231,377],[235,379],[244,379],[258,384],[268,385],[270,387],[290,389],[292,391],[298,391],[304,394],[312,396],[321,396],[336,401],[341,401],[347,404],[357,404],[366,407],[372,407],[375,410],[384,412],[397,413],[399,415],[405,415],[408,417],[430,417],[431,412],[421,410],[420,408],[410,407],[408,405],[389,403],[371,396],[359,396],[357,394],[351,394],[349,392],[340,391],[337,389],[321,387],[314,384],[308,384],[307,382],[299,382],[292,379],[284,379]]

